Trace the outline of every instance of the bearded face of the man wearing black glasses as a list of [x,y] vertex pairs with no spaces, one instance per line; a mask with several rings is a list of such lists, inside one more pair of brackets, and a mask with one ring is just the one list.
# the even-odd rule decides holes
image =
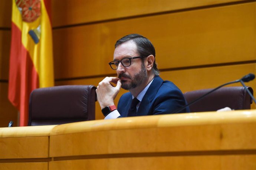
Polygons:
[[[127,41],[115,48],[114,60],[140,56],[137,52],[137,46],[133,41]],[[121,62],[116,69],[118,78],[121,79],[121,87],[129,90],[136,88],[147,80],[148,74],[141,58],[131,59],[131,65],[124,67]]]

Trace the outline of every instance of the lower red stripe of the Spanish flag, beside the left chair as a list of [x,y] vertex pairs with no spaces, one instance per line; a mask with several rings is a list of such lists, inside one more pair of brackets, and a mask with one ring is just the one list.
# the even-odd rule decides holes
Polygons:
[[20,29],[12,23],[8,97],[20,110],[20,126],[27,126],[29,95],[39,87],[39,76],[21,37]]

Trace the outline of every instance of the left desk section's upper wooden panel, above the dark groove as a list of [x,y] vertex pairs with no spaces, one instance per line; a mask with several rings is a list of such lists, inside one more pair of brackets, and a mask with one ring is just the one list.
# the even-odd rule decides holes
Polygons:
[[49,133],[54,126],[0,128],[0,158],[49,157]]

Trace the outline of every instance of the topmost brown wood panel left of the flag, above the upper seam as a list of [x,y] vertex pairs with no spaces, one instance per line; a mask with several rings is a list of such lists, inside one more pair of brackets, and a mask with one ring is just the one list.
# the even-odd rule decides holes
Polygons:
[[12,1],[0,1],[0,28],[11,28],[12,21]]

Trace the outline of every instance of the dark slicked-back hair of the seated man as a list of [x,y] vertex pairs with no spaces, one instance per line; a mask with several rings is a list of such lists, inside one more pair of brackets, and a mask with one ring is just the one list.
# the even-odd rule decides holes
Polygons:
[[[132,40],[137,45],[137,52],[140,54],[140,56],[144,57],[144,56],[153,55],[155,58],[154,45],[150,42],[150,40],[148,40],[148,38],[145,38],[140,34],[129,34],[129,35],[126,35],[126,36],[120,38],[119,40],[116,41],[115,48],[118,45],[125,43],[127,41],[130,41],[130,40]],[[142,58],[142,59],[144,60],[144,58]],[[155,63],[155,61],[153,64],[153,73],[155,75],[159,75],[159,70],[157,68],[157,64]]]

